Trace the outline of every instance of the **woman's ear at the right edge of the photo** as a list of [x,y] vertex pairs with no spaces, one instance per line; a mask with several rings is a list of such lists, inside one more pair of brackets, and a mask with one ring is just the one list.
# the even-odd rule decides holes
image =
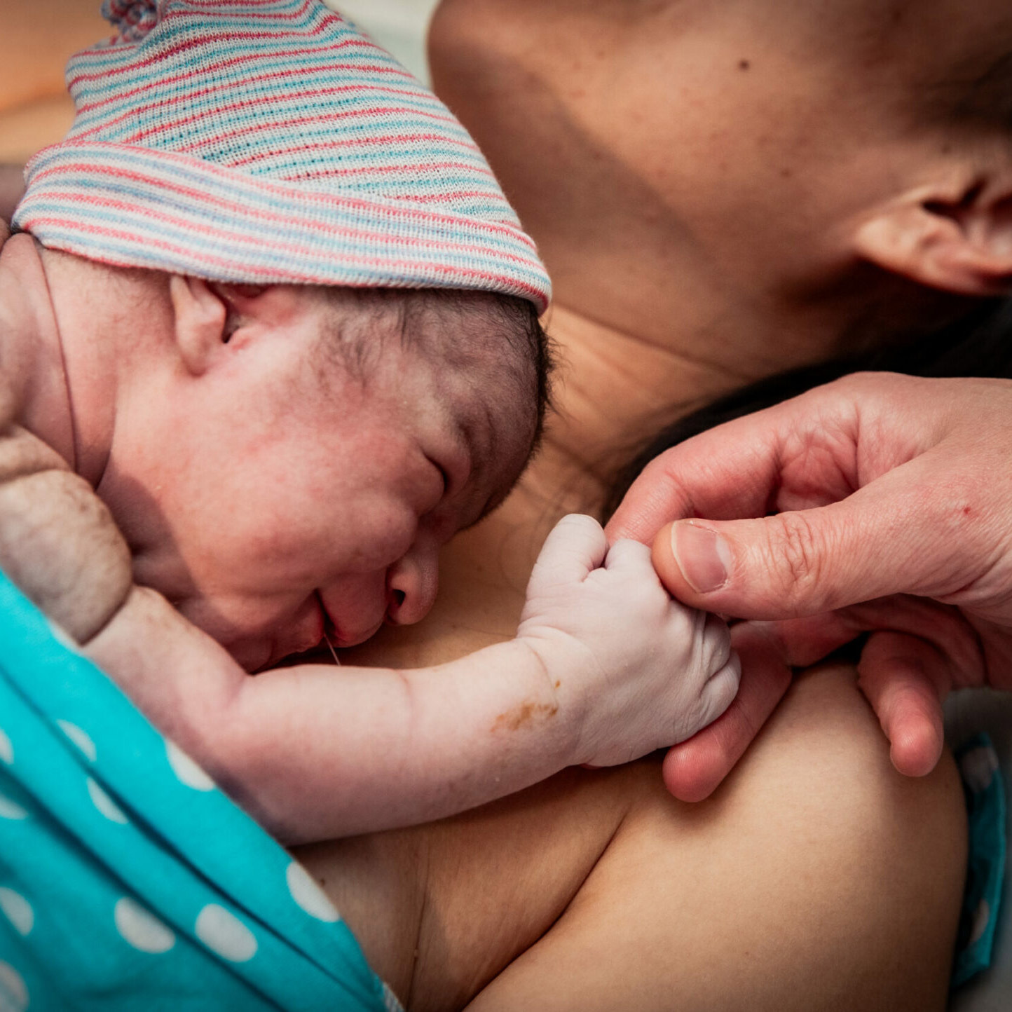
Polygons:
[[1012,159],[985,172],[940,169],[936,182],[876,207],[854,245],[863,259],[934,288],[1012,293]]

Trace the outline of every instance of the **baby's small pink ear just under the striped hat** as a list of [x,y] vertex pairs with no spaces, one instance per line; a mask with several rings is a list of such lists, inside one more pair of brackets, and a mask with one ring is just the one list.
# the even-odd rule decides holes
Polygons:
[[271,290],[264,285],[173,275],[169,296],[176,346],[187,371],[202,375],[245,320],[276,315],[270,301],[263,298]]

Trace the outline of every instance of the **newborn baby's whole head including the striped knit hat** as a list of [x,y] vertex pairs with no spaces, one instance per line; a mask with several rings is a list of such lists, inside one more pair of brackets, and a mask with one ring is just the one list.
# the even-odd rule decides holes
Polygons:
[[533,243],[449,111],[319,0],[107,9],[14,224],[65,342],[120,335],[97,488],[139,581],[250,668],[417,620],[536,439]]

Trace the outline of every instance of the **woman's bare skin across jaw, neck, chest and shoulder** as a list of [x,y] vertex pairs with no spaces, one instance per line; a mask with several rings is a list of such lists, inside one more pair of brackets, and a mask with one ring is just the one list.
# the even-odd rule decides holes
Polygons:
[[[863,144],[865,126],[899,135],[854,112],[877,108],[886,82],[862,94],[864,78],[825,61],[810,65],[826,71],[820,82],[784,78],[804,65],[777,51],[777,38],[796,36],[782,5],[779,17],[768,6],[442,4],[437,86],[487,148],[556,277],[560,411],[503,509],[450,545],[426,624],[385,632],[356,657],[420,663],[510,635],[531,546],[558,512],[594,508],[614,462],[666,418],[855,335],[873,341],[879,327],[960,312],[965,290],[933,296],[920,276],[872,267],[842,226],[899,201],[892,183],[913,193],[958,180],[972,158],[954,148],[942,157],[944,139],[926,132],[910,146],[891,142],[882,159]],[[819,24],[793,10],[792,28],[818,39]],[[724,13],[737,20],[706,23]],[[917,30],[942,30],[942,13]],[[687,65],[671,34],[690,14],[706,67]],[[872,5],[819,8],[827,39],[878,16]],[[714,96],[723,105],[706,115]],[[750,112],[736,113],[738,98]],[[790,136],[806,102],[824,110],[803,128],[825,125],[815,146]],[[840,143],[842,122],[861,143]],[[745,147],[735,150],[737,139]],[[758,159],[771,144],[776,154]],[[661,164],[670,152],[683,157]],[[696,178],[679,181],[693,167]],[[748,183],[766,167],[770,185],[745,190],[754,227],[724,227],[741,209],[735,173]],[[825,185],[812,188],[813,177]],[[720,248],[699,256],[686,241],[696,239]],[[862,291],[870,300],[859,310]],[[941,1009],[964,860],[960,792],[948,757],[917,782],[890,766],[855,682],[844,667],[797,681],[700,806],[666,795],[659,765],[643,761],[570,771],[467,817],[300,857],[412,1008]]]

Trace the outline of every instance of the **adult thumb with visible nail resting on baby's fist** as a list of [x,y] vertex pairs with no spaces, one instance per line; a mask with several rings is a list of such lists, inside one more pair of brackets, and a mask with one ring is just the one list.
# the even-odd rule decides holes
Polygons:
[[680,601],[739,618],[791,618],[962,585],[972,560],[951,524],[925,503],[920,483],[895,475],[828,506],[669,523],[654,541],[654,567]]

